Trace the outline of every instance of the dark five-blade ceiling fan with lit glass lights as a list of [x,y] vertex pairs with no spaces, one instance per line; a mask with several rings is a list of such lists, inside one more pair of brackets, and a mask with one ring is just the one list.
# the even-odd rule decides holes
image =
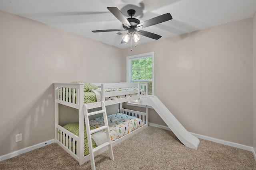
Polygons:
[[162,23],[168,20],[172,20],[172,16],[170,13],[166,13],[160,16],[157,16],[155,18],[152,18],[150,20],[146,20],[142,23],[140,23],[140,20],[136,18],[132,18],[135,14],[135,10],[128,10],[127,13],[131,18],[126,18],[120,10],[116,7],[107,7],[108,10],[123,24],[124,29],[103,29],[103,30],[94,30],[92,32],[98,33],[98,32],[109,32],[109,31],[128,31],[123,37],[121,43],[128,44],[130,41],[130,37],[132,35],[132,39],[134,40],[134,44],[138,43],[140,41],[140,35],[143,35],[145,37],[149,37],[152,39],[160,39],[162,36],[148,32],[143,31],[141,28],[149,27],[152,25],[156,25],[158,23]]

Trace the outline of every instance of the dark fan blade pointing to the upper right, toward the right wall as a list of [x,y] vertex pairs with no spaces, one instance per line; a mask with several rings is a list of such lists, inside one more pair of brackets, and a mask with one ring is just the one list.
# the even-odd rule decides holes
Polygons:
[[146,21],[138,24],[137,27],[141,26],[142,28],[145,28],[145,27],[149,27],[151,25],[156,25],[158,23],[168,21],[168,20],[172,20],[172,16],[170,13],[166,13],[166,14],[157,16],[155,18],[151,18],[150,20],[146,20]]

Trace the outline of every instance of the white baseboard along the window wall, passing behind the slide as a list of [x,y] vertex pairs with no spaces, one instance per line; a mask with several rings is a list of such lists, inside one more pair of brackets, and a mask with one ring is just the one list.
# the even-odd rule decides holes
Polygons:
[[[154,123],[148,123],[148,125],[154,126],[154,127],[159,127],[159,128],[166,129],[166,130],[169,130],[169,131],[171,130],[168,126],[157,125],[157,124],[154,124]],[[253,152],[254,158],[256,160],[256,154],[255,154],[255,150],[253,149],[253,147],[249,147],[249,146],[242,145],[242,144],[239,144],[239,143],[224,141],[222,139],[217,139],[217,138],[213,138],[213,137],[207,137],[207,136],[199,135],[199,134],[196,134],[196,133],[191,133],[191,134],[194,135],[197,138],[205,139],[207,141],[212,141],[212,142],[220,143],[220,144],[223,144],[223,145],[228,145],[228,146],[231,146],[231,147],[236,147],[236,148],[239,148],[239,149],[244,149],[244,150],[251,151],[251,152]],[[199,146],[200,146],[200,144],[199,144]]]

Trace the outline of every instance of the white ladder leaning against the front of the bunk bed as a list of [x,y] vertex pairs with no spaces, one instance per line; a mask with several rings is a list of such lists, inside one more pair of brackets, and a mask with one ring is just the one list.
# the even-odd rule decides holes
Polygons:
[[[93,111],[93,112],[88,112],[88,108],[86,104],[84,104],[84,118],[85,118],[85,124],[86,124],[86,132],[87,132],[87,139],[88,139],[88,147],[89,147],[89,152],[90,152],[90,160],[91,160],[91,166],[92,166],[92,170],[95,170],[95,161],[94,161],[94,152],[108,146],[108,150],[109,150],[109,155],[110,155],[110,159],[114,160],[114,154],[113,154],[113,149],[112,149],[112,144],[111,144],[111,139],[110,139],[110,134],[109,134],[109,128],[108,128],[108,118],[107,118],[107,112],[106,112],[106,107],[105,107],[105,103],[102,101],[101,102],[101,107],[102,110],[98,110],[98,111]],[[96,114],[100,114],[103,113],[103,117],[104,117],[104,126],[90,130],[90,122],[89,122],[89,116],[91,115],[96,115]],[[92,148],[92,138],[91,138],[91,134],[96,133],[98,131],[102,131],[104,130],[106,131],[106,135],[107,135],[107,142],[103,143],[102,145],[97,146],[96,148]]]

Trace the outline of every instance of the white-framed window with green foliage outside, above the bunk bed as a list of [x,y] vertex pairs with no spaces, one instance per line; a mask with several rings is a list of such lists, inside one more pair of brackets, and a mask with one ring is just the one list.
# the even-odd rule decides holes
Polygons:
[[148,94],[154,95],[154,52],[126,57],[126,81],[147,82]]

